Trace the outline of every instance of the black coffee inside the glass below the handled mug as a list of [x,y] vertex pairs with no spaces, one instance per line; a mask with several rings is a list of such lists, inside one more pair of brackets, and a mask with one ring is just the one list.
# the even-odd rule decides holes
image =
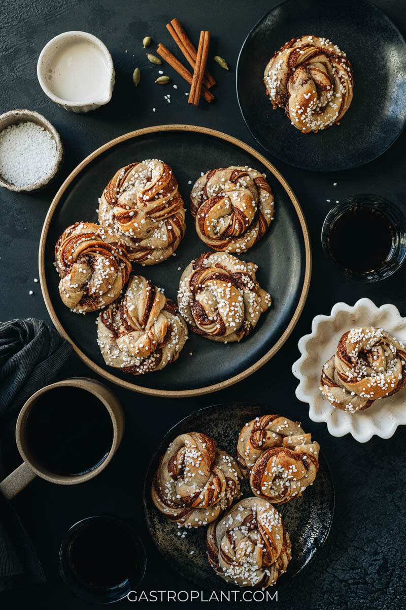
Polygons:
[[85,522],[69,544],[69,563],[82,584],[111,589],[138,579],[142,558],[131,529],[115,519]]

